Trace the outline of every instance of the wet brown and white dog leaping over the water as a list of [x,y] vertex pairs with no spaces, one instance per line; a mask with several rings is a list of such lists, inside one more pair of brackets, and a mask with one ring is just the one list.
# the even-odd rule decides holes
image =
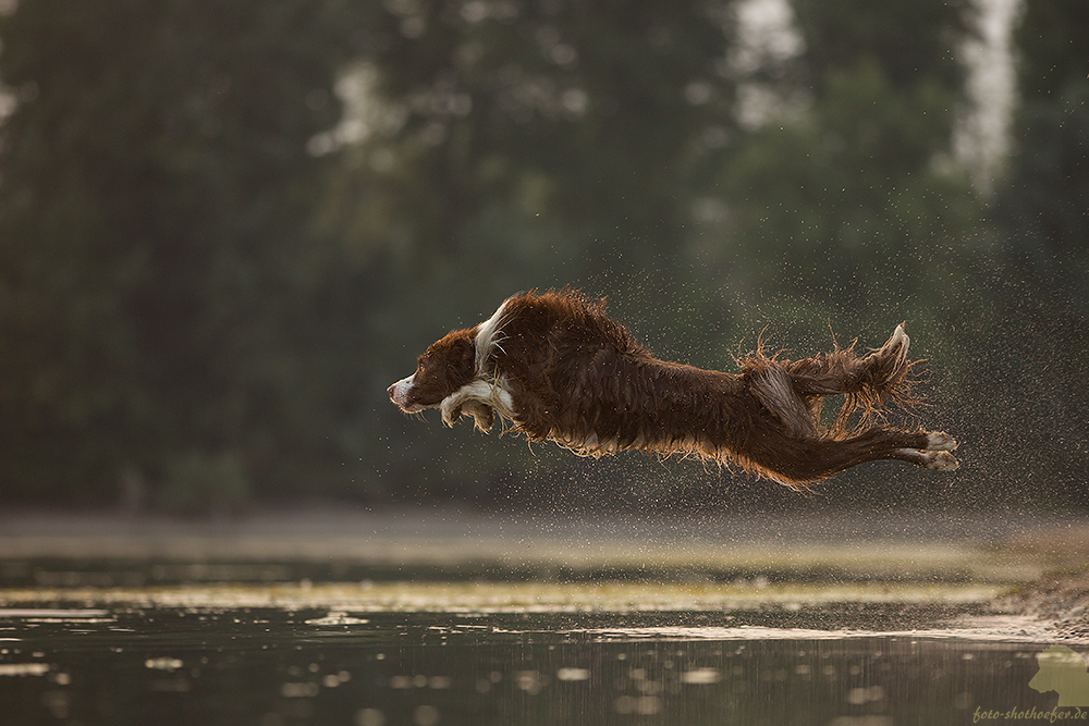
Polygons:
[[[498,415],[529,441],[579,455],[693,455],[792,488],[879,459],[951,471],[949,434],[874,423],[889,405],[919,403],[907,347],[901,324],[864,357],[852,345],[788,360],[758,344],[739,373],[703,370],[654,358],[604,299],[564,288],[515,295],[449,333],[388,393],[409,414],[438,407],[448,426],[464,415],[488,431]],[[823,423],[821,399],[837,394],[840,415]]]

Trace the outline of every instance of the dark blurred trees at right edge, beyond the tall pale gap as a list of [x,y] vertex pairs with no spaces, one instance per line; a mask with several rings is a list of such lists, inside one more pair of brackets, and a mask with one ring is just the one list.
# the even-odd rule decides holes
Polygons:
[[994,296],[971,380],[1016,392],[989,421],[1011,478],[1087,506],[1089,394],[1070,382],[1089,359],[1089,4],[1026,2],[1016,41],[1014,149],[990,208],[991,275],[1013,292]]

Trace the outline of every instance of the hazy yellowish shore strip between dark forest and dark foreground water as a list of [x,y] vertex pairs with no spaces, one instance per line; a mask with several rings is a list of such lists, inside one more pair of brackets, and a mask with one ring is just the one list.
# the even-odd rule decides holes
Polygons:
[[[34,513],[0,517],[0,608],[36,600],[479,612],[510,601],[615,613],[944,603],[968,618],[952,637],[1015,628],[1033,641],[1089,642],[1087,562],[1089,521],[1079,516]],[[188,599],[171,594],[183,586]],[[443,588],[463,600],[442,601]]]

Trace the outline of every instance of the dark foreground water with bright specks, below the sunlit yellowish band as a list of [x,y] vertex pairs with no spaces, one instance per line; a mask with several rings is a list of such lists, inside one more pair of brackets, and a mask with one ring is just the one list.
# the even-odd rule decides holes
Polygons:
[[1042,712],[1057,698],[1029,688],[1047,642],[937,637],[949,611],[903,603],[487,615],[99,605],[0,611],[4,724],[967,724],[977,709]]

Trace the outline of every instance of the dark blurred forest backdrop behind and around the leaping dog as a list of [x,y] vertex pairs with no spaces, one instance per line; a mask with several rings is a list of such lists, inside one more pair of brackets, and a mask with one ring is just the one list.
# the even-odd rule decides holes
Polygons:
[[[1089,507],[1084,0],[5,0],[0,44],[0,505]],[[906,320],[962,469],[797,494],[387,399],[567,284],[725,370]]]

